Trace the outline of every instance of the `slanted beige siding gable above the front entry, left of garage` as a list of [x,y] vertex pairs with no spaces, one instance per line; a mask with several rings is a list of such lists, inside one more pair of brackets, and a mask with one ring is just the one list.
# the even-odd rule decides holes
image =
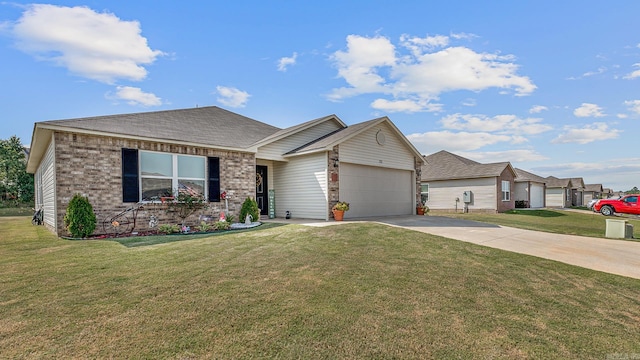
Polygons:
[[340,126],[335,121],[324,121],[309,129],[260,147],[256,154],[256,158],[287,161],[287,159],[282,157],[283,154],[330,134],[339,128]]

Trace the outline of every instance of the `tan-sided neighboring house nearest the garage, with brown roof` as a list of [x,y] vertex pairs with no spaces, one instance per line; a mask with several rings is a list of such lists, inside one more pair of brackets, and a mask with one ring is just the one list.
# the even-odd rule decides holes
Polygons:
[[515,207],[510,163],[481,164],[444,150],[424,159],[421,195],[429,208],[503,212]]

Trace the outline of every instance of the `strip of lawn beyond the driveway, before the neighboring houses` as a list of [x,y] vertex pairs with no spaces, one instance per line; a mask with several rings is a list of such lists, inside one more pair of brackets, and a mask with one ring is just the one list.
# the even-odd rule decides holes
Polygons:
[[633,224],[634,238],[640,238],[640,220],[636,220],[632,217],[606,217],[592,212],[515,209],[500,214],[464,214],[438,211],[432,211],[430,214],[481,221],[521,229],[599,238],[602,238],[605,235],[607,219],[626,219],[630,224]]

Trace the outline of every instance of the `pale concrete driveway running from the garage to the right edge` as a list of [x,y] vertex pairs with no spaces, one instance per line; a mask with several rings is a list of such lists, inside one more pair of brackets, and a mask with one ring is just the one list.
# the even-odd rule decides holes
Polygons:
[[378,222],[640,279],[640,242],[636,241],[552,234],[442,216],[392,216],[344,222],[299,219],[269,221],[309,226]]

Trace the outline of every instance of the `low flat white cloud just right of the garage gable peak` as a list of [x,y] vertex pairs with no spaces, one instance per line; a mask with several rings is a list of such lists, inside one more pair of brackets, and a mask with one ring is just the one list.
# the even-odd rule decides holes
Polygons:
[[442,149],[447,151],[471,151],[483,146],[510,142],[513,138],[508,135],[495,135],[486,132],[451,132],[431,131],[422,134],[407,135],[423,154],[430,154]]

